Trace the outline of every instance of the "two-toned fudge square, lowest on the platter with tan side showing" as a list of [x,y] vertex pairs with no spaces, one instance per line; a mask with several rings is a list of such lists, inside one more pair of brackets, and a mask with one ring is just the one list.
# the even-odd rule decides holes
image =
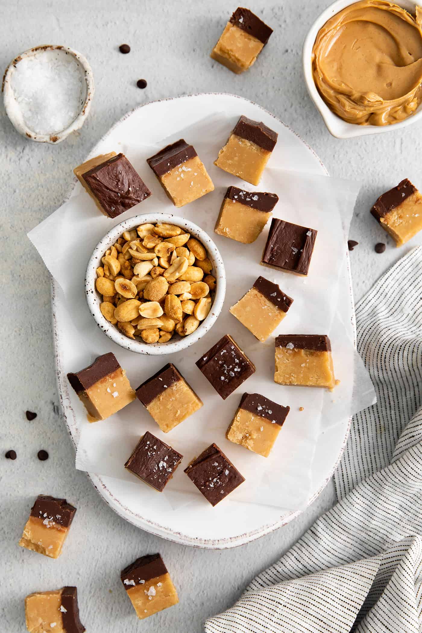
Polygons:
[[289,411],[290,406],[281,406],[260,394],[243,394],[226,437],[268,457]]

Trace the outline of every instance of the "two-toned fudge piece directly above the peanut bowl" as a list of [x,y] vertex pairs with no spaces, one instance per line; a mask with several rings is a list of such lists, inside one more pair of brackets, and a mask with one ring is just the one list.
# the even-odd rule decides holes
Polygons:
[[174,206],[184,206],[214,191],[214,184],[195,148],[184,139],[167,145],[148,158],[147,163]]

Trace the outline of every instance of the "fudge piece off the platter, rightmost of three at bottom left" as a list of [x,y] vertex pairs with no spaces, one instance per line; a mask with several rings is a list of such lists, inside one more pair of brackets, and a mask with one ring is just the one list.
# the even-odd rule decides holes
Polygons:
[[120,579],[139,620],[179,602],[176,587],[160,554],[137,558],[124,568]]

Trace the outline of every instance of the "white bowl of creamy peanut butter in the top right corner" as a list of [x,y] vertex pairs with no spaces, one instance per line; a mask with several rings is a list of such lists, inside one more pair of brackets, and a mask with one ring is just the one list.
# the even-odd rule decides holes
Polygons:
[[422,116],[418,2],[337,0],[310,28],[302,63],[310,98],[339,139],[396,130]]

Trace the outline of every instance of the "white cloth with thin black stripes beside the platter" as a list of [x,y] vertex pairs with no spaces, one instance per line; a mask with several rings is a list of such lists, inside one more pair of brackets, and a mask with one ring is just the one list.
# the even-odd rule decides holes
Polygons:
[[340,501],[207,633],[422,633],[422,247],[356,319],[378,403],[354,417]]

